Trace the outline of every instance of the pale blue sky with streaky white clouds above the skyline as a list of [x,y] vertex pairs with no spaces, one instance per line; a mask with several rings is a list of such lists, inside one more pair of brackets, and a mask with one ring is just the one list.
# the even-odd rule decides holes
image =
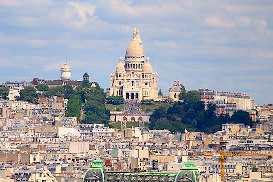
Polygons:
[[0,0],[0,83],[59,79],[67,57],[109,87],[134,27],[164,95],[180,80],[273,103],[273,0]]

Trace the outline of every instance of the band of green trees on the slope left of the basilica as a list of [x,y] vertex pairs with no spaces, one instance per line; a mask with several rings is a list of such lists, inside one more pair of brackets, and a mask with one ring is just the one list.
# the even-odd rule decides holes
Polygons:
[[48,98],[52,96],[64,97],[68,99],[66,116],[76,116],[79,120],[82,107],[84,106],[85,119],[82,122],[107,123],[109,121],[110,112],[105,109],[105,95],[99,84],[95,83],[95,85],[96,87],[91,87],[91,83],[88,80],[84,80],[82,84],[74,90],[68,85],[48,88],[46,84],[41,84],[36,86],[36,89],[43,91],[42,95],[38,94],[34,87],[29,86],[21,90],[20,97],[17,99],[37,103],[39,96]]

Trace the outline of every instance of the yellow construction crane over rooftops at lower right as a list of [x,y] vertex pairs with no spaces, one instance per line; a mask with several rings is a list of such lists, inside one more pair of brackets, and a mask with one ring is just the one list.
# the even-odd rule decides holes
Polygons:
[[222,181],[225,182],[225,159],[226,157],[234,156],[258,156],[258,157],[272,157],[272,154],[258,154],[255,151],[219,151],[214,153],[204,153],[203,156],[220,157],[220,172]]

